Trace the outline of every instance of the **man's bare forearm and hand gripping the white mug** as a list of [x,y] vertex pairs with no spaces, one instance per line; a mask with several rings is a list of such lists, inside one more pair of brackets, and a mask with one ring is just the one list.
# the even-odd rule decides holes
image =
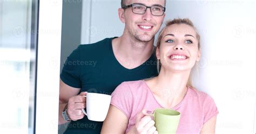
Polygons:
[[[85,97],[79,96],[78,93],[80,91],[80,88],[73,88],[68,86],[68,84],[65,84],[62,80],[59,80],[59,124],[64,124],[67,121],[64,120],[62,117],[62,111],[65,108],[65,105],[69,102],[69,107],[68,107],[68,114],[70,118],[75,121],[79,118],[83,118],[84,114],[80,113],[82,110],[77,110],[77,114],[74,112],[69,112],[70,110],[75,110],[73,109],[74,107],[80,107],[80,108],[85,108]],[[75,103],[78,102],[76,105]],[[80,103],[79,103],[80,102]],[[76,115],[74,115],[76,114]],[[82,115],[81,115],[82,114]],[[75,117],[74,117],[75,116]]]

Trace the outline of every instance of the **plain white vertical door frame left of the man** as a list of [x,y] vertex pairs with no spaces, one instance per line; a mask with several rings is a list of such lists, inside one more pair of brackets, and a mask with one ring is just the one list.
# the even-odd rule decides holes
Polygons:
[[62,2],[39,1],[36,134],[58,133]]

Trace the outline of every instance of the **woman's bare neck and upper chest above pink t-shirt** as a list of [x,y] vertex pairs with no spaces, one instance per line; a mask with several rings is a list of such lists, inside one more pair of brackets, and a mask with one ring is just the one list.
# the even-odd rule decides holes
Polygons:
[[159,75],[147,84],[159,103],[163,102],[162,105],[172,108],[185,97],[189,75],[190,70],[176,72],[161,69]]

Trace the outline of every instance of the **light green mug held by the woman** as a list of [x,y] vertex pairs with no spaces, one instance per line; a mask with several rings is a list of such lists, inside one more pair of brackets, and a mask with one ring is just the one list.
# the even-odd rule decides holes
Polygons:
[[154,110],[150,116],[153,116],[154,126],[156,126],[159,134],[176,133],[179,125],[180,112],[172,109],[159,108]]

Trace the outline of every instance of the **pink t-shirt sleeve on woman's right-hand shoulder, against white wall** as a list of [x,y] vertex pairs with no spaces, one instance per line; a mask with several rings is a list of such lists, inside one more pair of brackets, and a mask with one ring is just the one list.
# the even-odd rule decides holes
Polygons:
[[207,96],[204,109],[204,123],[219,114],[218,108],[211,96]]

